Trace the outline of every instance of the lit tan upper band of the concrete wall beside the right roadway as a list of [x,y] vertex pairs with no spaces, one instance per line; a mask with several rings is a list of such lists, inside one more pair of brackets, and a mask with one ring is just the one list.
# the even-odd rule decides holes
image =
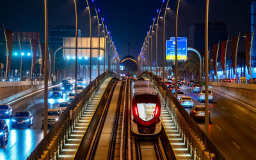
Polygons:
[[227,83],[227,82],[210,82],[211,86],[223,86],[229,88],[241,88],[246,90],[256,90],[256,84],[244,84],[244,83]]

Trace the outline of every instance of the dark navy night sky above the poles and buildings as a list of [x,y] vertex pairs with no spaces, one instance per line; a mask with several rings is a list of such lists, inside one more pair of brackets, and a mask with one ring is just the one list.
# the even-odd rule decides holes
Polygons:
[[[120,58],[128,54],[131,43],[131,55],[138,57],[157,8],[162,0],[96,0],[102,17],[106,19]],[[170,1],[167,12],[166,39],[175,35],[175,10],[177,1]],[[90,3],[92,5],[92,3]],[[74,1],[48,1],[49,27],[56,25],[74,25]],[[88,10],[85,0],[77,0],[79,29],[82,36],[89,36]],[[93,13],[95,15],[95,13]],[[189,26],[205,20],[205,1],[181,0],[179,10],[179,36],[189,36]],[[228,35],[237,36],[239,31],[250,31],[250,0],[210,0],[209,21],[223,20],[228,26]],[[6,29],[19,31],[40,31],[44,40],[44,1],[9,0],[1,1],[0,22]],[[97,36],[97,20],[93,19],[93,36]],[[161,22],[160,22],[161,23]],[[160,28],[161,29],[161,28]],[[3,31],[0,33],[3,42]]]

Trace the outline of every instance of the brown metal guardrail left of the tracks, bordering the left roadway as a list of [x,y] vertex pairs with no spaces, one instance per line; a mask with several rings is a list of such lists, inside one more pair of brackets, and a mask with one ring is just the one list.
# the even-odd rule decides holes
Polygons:
[[[84,88],[83,92],[81,92],[67,107],[64,113],[60,116],[58,122],[53,125],[45,138],[38,143],[33,152],[28,156],[28,160],[43,159],[43,154],[44,156],[49,157],[49,159],[56,156],[56,152],[58,152],[65,144],[65,141],[68,140],[68,136],[70,136],[74,124],[78,122],[77,115],[82,114],[81,111],[83,111],[84,103],[92,100],[93,93],[97,89],[97,86],[99,86],[108,76],[108,74],[103,73]],[[79,103],[79,105],[77,103]],[[54,143],[52,143],[53,139]],[[50,143],[52,143],[50,147],[51,149],[49,149]],[[44,151],[48,151],[48,153],[45,154]]]

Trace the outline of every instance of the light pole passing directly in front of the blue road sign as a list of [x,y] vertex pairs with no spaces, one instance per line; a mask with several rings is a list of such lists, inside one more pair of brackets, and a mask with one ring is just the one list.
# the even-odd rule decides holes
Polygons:
[[[178,99],[178,15],[179,15],[180,0],[178,0],[176,18],[175,18],[175,97]],[[164,15],[165,17],[165,15]]]

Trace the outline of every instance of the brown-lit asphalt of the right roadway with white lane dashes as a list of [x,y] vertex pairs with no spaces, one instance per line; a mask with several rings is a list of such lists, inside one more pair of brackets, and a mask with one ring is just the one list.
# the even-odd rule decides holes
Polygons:
[[[198,102],[198,93],[182,86],[181,91]],[[214,93],[214,92],[213,92]],[[209,103],[211,124],[209,138],[227,159],[255,159],[256,157],[256,113],[214,93],[214,102]],[[189,113],[189,109],[186,109]],[[204,122],[198,122],[204,130]]]

